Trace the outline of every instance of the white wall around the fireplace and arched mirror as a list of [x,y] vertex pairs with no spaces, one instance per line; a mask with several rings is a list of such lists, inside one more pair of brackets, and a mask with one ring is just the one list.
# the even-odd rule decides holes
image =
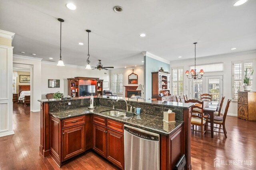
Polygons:
[[[144,67],[143,66],[137,66],[134,69],[134,73],[138,74],[138,84],[144,85]],[[132,73],[132,68],[118,68],[110,70],[110,77],[112,74],[123,74],[123,86],[138,86],[138,84],[128,84],[128,75]],[[110,90],[112,85],[112,79],[110,78]],[[115,94],[119,97],[125,97],[125,87],[123,87],[123,93],[122,94]],[[144,91],[141,93],[141,97],[145,98]]]

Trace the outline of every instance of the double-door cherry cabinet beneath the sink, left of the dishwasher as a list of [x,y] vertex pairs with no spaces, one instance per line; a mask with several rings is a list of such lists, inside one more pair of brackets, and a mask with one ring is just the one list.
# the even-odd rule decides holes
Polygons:
[[93,150],[124,169],[124,124],[94,115],[93,136]]

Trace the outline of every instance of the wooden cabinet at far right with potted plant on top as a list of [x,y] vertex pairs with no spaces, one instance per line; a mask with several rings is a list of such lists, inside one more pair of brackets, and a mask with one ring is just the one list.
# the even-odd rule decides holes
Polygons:
[[256,121],[256,92],[238,92],[238,118]]

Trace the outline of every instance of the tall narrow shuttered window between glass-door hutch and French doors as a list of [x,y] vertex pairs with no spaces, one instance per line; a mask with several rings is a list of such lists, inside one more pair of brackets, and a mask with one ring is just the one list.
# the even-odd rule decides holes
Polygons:
[[173,95],[183,95],[183,67],[172,68]]

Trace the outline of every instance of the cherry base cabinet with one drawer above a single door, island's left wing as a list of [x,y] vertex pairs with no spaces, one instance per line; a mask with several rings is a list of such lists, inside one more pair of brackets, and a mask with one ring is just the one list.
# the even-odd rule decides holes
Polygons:
[[85,152],[85,115],[60,120],[50,116],[50,155],[62,163]]

